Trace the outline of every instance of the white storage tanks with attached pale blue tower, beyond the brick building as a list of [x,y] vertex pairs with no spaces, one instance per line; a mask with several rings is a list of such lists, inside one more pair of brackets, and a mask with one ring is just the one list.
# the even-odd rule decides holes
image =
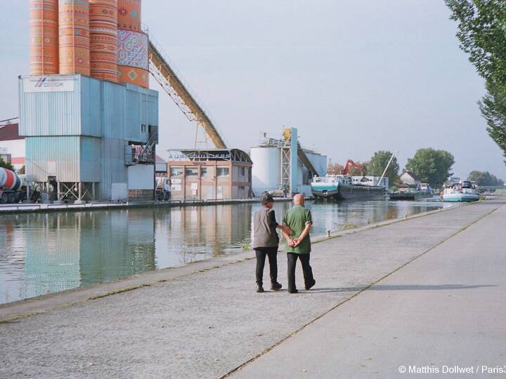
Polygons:
[[297,128],[283,131],[283,138],[266,138],[252,147],[249,156],[253,162],[252,190],[254,196],[264,191],[280,191],[311,195],[311,179],[325,176],[327,157],[303,149],[297,138]]

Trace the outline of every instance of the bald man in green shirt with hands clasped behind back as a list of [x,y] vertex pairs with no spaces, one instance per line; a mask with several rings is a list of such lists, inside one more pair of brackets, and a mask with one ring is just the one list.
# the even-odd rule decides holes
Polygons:
[[309,258],[311,253],[311,237],[309,231],[313,220],[311,218],[311,211],[304,208],[304,196],[296,194],[293,199],[294,206],[285,213],[283,224],[290,227],[292,234],[283,232],[288,247],[288,292],[297,293],[295,286],[295,266],[297,265],[297,258],[301,261],[302,272],[304,274],[304,284],[306,290],[311,289],[316,280],[313,278],[313,270],[309,265]]

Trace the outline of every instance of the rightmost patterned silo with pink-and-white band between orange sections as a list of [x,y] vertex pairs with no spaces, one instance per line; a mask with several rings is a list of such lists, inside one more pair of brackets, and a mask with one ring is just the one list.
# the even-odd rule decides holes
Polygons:
[[118,0],[119,83],[149,87],[148,34],[141,31],[141,0]]

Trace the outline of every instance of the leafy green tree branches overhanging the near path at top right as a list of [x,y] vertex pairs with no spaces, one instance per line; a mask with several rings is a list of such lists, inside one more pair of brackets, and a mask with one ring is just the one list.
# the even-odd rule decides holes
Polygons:
[[[487,131],[506,157],[506,6],[504,0],[445,0],[460,48],[486,81],[479,102]],[[505,161],[506,164],[506,161]]]

